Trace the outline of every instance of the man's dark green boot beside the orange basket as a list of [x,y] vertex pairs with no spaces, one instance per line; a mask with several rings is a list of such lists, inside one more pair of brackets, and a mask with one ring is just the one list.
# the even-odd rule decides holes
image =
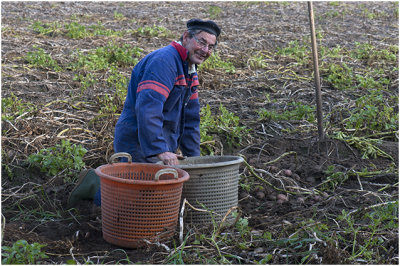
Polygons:
[[100,188],[100,177],[94,169],[83,170],[79,174],[78,183],[68,198],[68,208],[74,207],[80,200],[93,200]]

